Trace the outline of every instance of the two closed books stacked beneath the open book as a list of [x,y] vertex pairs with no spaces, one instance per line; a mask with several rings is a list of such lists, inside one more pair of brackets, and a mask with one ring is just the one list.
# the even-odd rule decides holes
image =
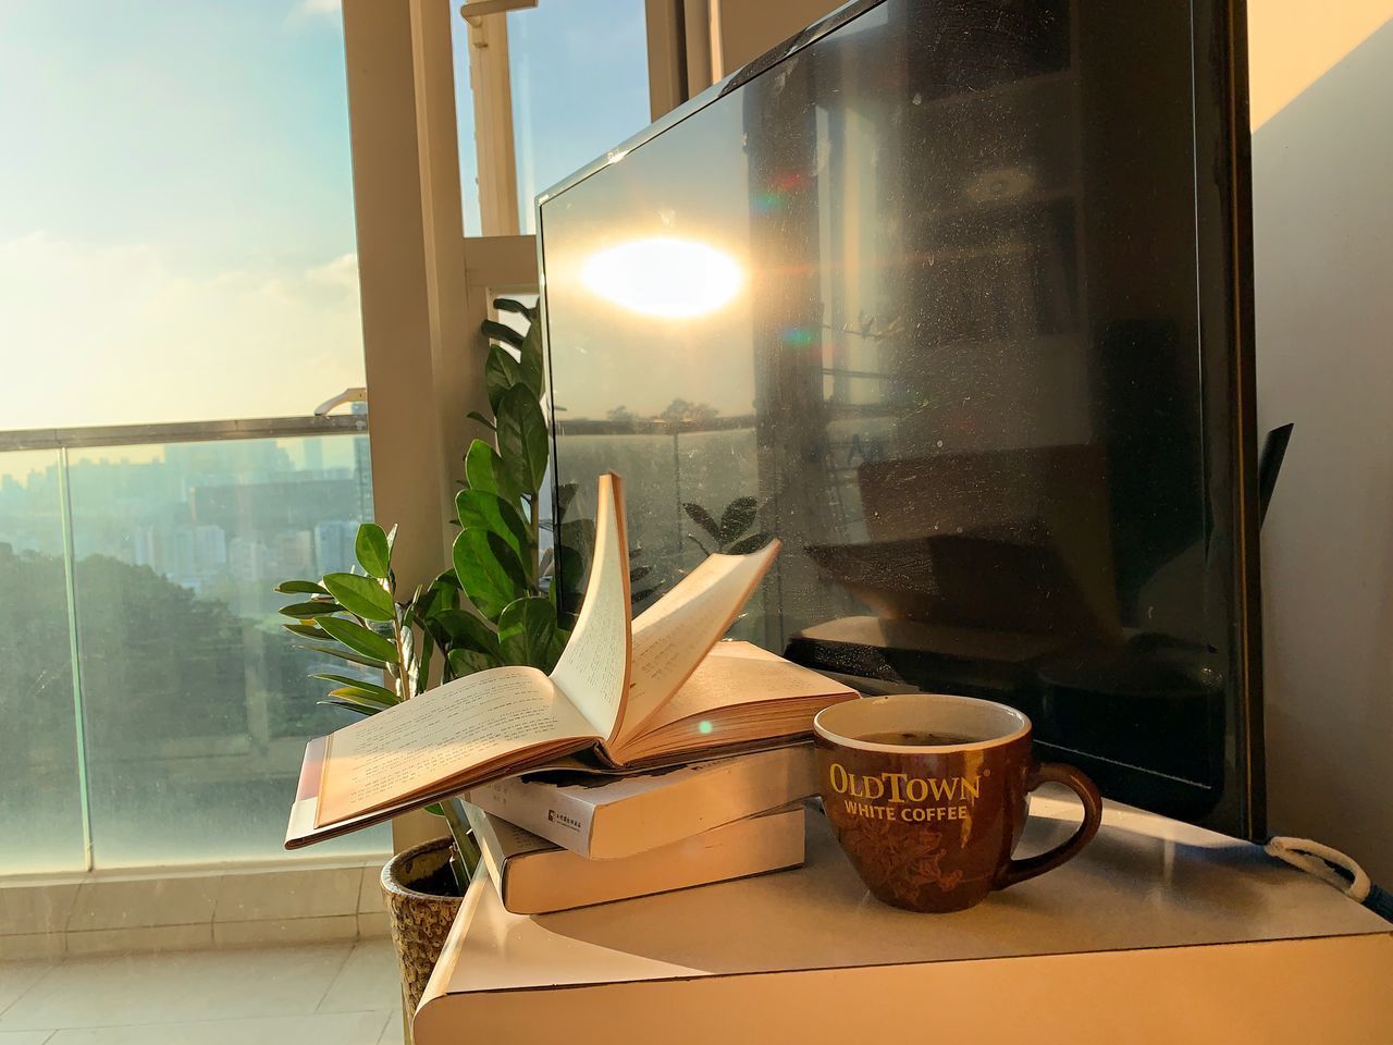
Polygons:
[[605,777],[514,776],[450,800],[514,914],[800,867],[811,744]]

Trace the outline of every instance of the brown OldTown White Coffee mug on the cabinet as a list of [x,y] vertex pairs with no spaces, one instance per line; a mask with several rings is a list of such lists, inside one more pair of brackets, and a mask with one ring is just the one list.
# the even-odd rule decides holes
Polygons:
[[[822,803],[866,888],[911,911],[961,911],[1053,871],[1098,833],[1103,804],[1078,769],[1036,762],[1031,720],[943,694],[848,701],[814,720]],[[1067,842],[1013,860],[1029,793],[1066,784],[1084,803]]]

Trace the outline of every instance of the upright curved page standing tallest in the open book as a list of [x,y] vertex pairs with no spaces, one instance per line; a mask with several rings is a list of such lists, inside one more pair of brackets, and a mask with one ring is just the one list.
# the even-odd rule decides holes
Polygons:
[[600,737],[620,727],[630,677],[628,545],[624,489],[610,472],[600,477],[595,513],[595,560],[585,602],[552,681]]

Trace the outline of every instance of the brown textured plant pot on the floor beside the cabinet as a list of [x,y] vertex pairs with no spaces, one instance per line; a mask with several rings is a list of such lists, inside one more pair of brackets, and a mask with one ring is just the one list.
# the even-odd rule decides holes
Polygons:
[[[401,996],[407,1012],[415,1013],[426,981],[454,925],[462,897],[443,896],[454,890],[450,874],[450,839],[436,839],[398,853],[382,868],[382,892],[387,897],[391,942],[401,963]],[[437,892],[426,892],[436,889]]]

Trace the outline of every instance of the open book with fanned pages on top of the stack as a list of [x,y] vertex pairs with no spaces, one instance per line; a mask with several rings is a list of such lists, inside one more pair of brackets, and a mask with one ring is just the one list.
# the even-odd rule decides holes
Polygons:
[[552,674],[479,672],[313,741],[313,828],[293,821],[287,847],[581,751],[638,768],[807,736],[818,711],[855,692],[742,644],[708,656],[776,553],[709,556],[631,620],[623,489],[602,477],[585,603]]

